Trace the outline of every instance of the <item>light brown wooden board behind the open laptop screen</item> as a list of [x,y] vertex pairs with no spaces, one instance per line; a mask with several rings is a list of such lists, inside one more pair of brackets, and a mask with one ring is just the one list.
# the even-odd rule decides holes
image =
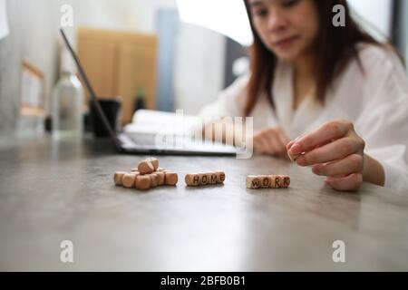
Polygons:
[[99,97],[121,96],[123,124],[131,121],[139,87],[147,108],[156,108],[157,45],[157,36],[151,34],[78,31],[78,54],[84,70]]

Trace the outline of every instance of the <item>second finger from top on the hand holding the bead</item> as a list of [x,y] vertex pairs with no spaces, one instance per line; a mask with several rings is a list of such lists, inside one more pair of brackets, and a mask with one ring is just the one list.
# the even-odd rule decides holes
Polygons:
[[298,157],[296,163],[299,166],[309,166],[333,160],[341,160],[360,150],[361,146],[359,142],[353,138],[345,137],[307,152]]

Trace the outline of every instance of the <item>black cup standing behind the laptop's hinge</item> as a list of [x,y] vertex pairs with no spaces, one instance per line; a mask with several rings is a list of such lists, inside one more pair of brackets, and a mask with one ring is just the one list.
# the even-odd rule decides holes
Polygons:
[[[98,99],[98,101],[106,119],[108,120],[113,131],[121,129],[121,98],[115,99]],[[90,102],[91,108],[91,124],[95,137],[107,137],[109,131],[105,129],[102,118],[95,108],[95,104]]]

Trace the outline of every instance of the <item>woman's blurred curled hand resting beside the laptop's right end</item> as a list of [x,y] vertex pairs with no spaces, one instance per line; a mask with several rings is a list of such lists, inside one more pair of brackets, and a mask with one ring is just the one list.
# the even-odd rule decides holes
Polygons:
[[280,127],[275,127],[254,134],[254,150],[260,154],[273,156],[287,155],[289,139]]

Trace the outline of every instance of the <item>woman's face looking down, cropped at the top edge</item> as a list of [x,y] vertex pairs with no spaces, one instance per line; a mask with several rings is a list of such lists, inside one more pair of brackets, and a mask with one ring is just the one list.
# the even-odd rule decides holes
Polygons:
[[294,62],[308,53],[318,31],[314,0],[248,0],[252,23],[267,48]]

